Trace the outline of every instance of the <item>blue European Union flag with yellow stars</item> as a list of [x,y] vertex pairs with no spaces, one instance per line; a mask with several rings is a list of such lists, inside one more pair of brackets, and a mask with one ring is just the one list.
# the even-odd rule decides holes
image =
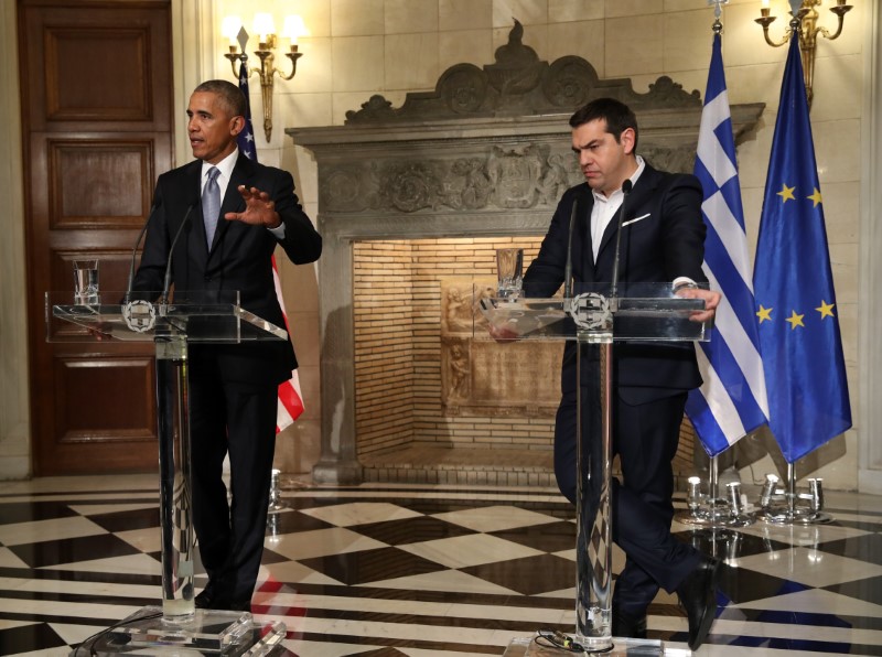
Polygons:
[[790,39],[756,261],[768,426],[794,463],[851,427],[799,39]]

